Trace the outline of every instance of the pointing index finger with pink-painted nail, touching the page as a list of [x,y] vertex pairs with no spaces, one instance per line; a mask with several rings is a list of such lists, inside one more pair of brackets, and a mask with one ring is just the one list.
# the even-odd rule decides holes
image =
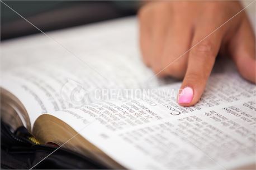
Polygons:
[[192,45],[195,47],[192,46],[193,48],[189,51],[188,67],[181,86],[182,91],[178,95],[178,103],[180,105],[191,106],[197,103],[214,66],[220,49],[223,31],[216,31],[205,38],[207,30],[213,29],[208,29],[207,27],[198,28],[193,37]]

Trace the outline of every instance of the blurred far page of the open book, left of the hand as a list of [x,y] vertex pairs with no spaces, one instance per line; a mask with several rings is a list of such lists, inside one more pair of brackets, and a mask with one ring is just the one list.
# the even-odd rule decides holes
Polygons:
[[95,89],[159,86],[156,77],[146,82],[154,74],[140,59],[136,31],[136,19],[125,18],[49,33],[72,54],[45,35],[4,42],[1,86],[25,105],[31,125],[41,113],[92,103]]

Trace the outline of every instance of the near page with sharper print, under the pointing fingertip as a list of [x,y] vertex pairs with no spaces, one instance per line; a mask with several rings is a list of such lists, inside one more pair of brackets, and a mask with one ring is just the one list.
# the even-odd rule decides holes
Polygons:
[[[168,93],[179,85],[161,89]],[[232,169],[255,163],[255,96],[255,85],[225,71],[212,75],[202,100],[192,108],[162,95],[51,115],[127,168]]]

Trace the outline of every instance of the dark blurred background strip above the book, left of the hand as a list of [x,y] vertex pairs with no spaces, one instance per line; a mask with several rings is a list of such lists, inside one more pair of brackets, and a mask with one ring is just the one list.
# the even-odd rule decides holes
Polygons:
[[2,1],[1,41],[40,33],[22,17],[45,32],[135,15],[139,3],[139,1]]

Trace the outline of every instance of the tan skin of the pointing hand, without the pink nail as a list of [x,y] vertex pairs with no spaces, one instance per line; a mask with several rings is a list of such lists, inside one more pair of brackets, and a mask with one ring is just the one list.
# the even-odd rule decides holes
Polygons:
[[255,83],[255,35],[246,13],[225,23],[241,9],[238,1],[153,1],[140,9],[143,61],[157,76],[183,79],[181,89],[193,89],[192,101],[180,105],[200,99],[217,54],[231,57],[241,76]]

